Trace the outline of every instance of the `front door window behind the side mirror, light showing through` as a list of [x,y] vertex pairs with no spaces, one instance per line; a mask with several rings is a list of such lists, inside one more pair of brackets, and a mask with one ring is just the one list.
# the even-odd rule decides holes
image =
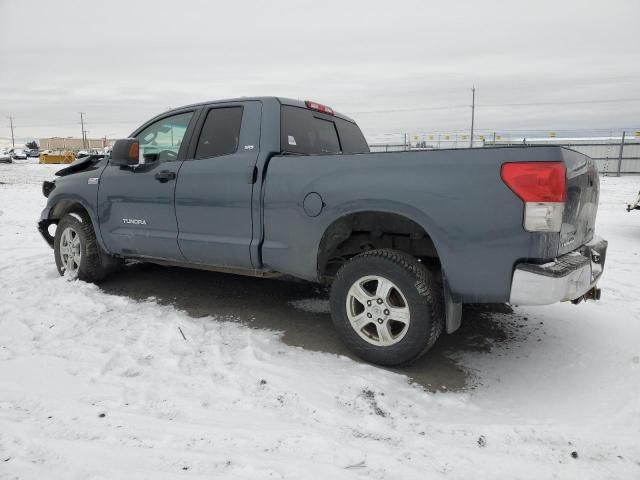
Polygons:
[[144,163],[176,160],[193,112],[165,117],[137,135]]

